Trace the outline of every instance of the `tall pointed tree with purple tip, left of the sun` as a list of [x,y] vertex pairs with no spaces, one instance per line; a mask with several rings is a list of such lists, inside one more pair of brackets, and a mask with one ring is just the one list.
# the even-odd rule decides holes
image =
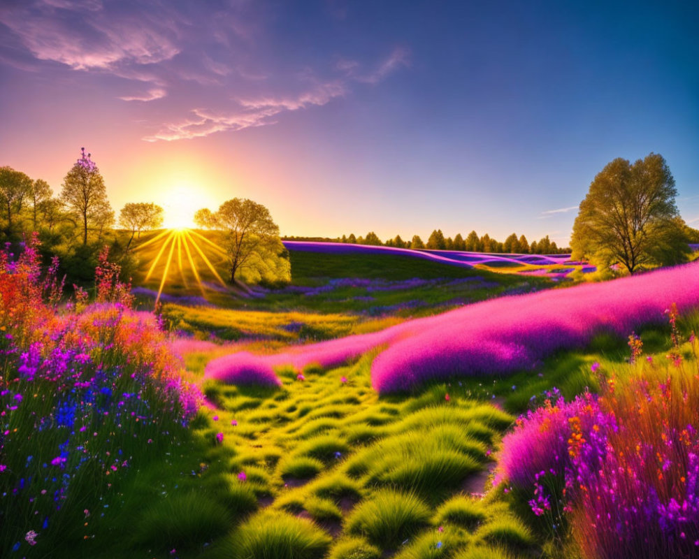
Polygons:
[[87,245],[87,228],[95,215],[103,215],[107,201],[107,191],[99,169],[90,154],[85,155],[81,147],[81,156],[75,161],[63,180],[62,202],[82,221],[82,245]]

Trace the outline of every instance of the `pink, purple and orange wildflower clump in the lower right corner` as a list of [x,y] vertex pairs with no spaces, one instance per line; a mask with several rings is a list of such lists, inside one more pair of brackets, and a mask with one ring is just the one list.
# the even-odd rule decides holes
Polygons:
[[680,347],[668,314],[663,362],[639,359],[631,337],[623,377],[547,400],[503,439],[496,481],[585,559],[699,556],[698,344],[692,333]]

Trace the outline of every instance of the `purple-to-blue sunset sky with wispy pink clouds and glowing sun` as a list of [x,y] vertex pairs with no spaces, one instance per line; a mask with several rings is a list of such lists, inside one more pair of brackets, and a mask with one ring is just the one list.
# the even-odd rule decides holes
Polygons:
[[665,157],[699,227],[693,1],[2,0],[0,165],[117,211],[230,198],[283,235],[567,245],[616,157]]

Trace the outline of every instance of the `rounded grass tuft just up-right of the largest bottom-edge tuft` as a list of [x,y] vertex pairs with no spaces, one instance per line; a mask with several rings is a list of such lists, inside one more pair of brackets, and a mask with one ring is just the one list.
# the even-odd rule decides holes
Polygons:
[[430,509],[416,495],[384,489],[359,504],[347,518],[347,532],[390,549],[426,525]]

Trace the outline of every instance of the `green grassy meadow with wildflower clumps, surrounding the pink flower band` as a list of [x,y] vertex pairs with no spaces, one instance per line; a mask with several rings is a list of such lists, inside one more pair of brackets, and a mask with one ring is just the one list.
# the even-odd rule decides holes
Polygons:
[[[695,553],[699,313],[689,303],[678,312],[663,300],[665,317],[633,335],[600,331],[533,367],[426,377],[409,391],[377,391],[382,345],[340,364],[275,366],[268,386],[230,384],[208,372],[241,351],[303,353],[477,301],[514,309],[524,298],[500,298],[560,286],[395,255],[291,251],[287,284],[224,289],[199,263],[200,289],[175,254],[158,323],[145,312],[167,266],[145,279],[157,250],[136,252],[141,310],[106,263],[97,300],[66,307],[53,280],[38,281],[31,252],[19,264],[3,253],[1,556]],[[225,277],[223,259],[210,261]],[[625,516],[596,528],[586,511],[617,511],[601,470],[586,467],[605,457],[637,476]],[[649,494],[650,508],[633,501]]]

